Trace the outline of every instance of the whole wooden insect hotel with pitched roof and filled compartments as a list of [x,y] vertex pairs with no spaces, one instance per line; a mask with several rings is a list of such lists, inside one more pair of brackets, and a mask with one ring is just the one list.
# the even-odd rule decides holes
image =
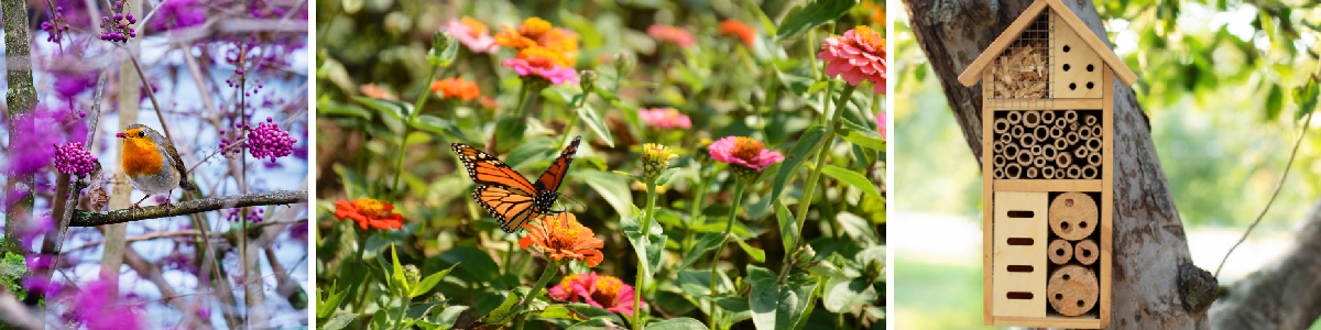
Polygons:
[[1110,326],[1115,79],[1137,75],[1059,0],[959,75],[982,83],[985,325]]

